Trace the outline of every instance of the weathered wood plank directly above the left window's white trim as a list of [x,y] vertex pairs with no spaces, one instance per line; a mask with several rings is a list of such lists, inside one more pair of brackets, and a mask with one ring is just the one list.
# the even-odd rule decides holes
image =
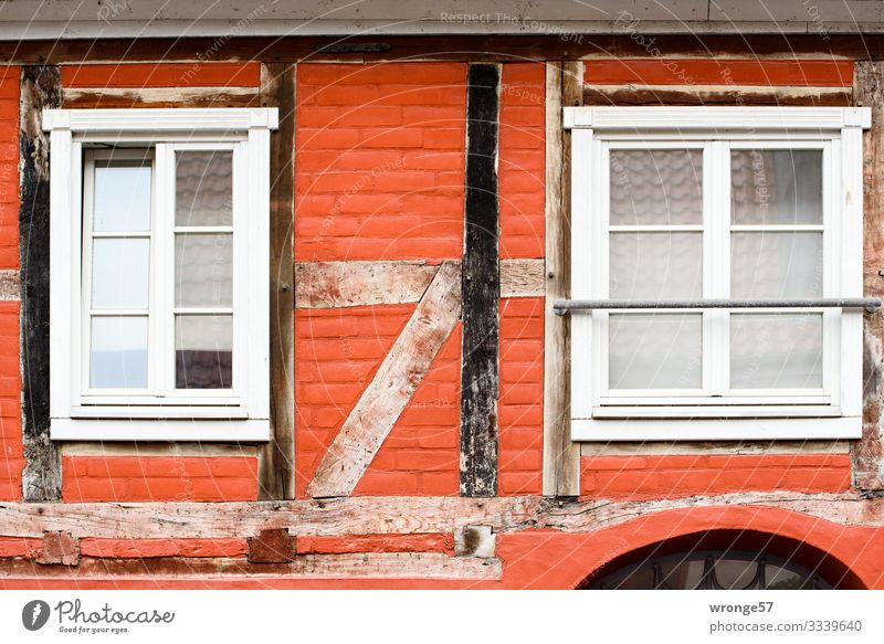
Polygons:
[[255,87],[71,87],[62,107],[257,107]]

